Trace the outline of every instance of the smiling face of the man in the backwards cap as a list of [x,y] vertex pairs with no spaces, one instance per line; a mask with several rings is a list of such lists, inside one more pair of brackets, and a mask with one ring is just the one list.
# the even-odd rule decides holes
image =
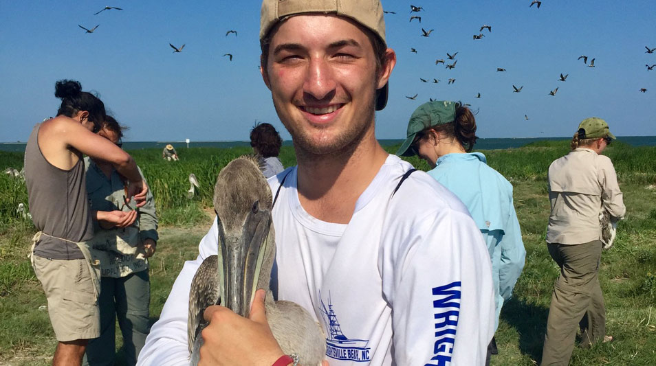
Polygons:
[[[327,155],[373,136],[375,91],[386,84],[394,62],[377,78],[363,28],[338,16],[307,14],[273,32],[262,73],[294,146]],[[395,60],[391,49],[387,53]]]

